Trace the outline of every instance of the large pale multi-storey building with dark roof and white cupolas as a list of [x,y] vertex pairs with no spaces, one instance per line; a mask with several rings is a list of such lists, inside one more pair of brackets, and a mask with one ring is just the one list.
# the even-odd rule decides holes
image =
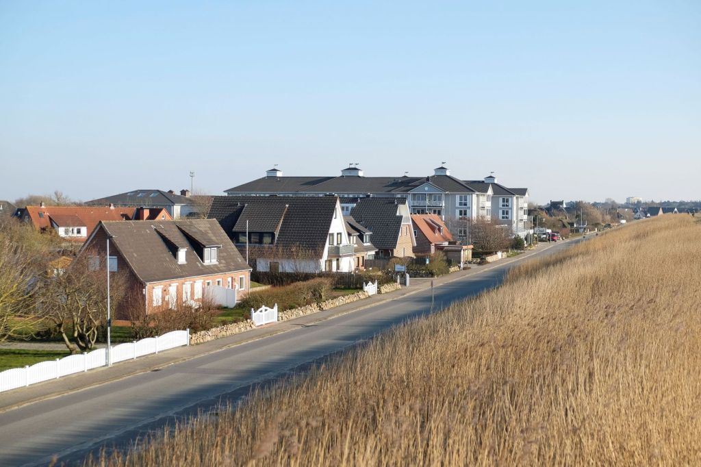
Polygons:
[[229,196],[339,196],[344,215],[362,198],[406,198],[411,214],[444,219],[456,236],[468,236],[469,222],[478,218],[510,226],[514,234],[527,229],[528,189],[507,188],[489,175],[484,180],[461,180],[443,165],[428,177],[365,177],[349,166],[338,177],[284,177],[273,168],[265,177],[225,191]]

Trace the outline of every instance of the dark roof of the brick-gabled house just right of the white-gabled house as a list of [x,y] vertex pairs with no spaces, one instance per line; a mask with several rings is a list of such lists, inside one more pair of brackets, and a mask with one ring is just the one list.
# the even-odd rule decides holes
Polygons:
[[356,222],[372,231],[370,240],[376,248],[397,248],[402,216],[397,215],[397,205],[406,204],[404,198],[362,198],[351,209]]

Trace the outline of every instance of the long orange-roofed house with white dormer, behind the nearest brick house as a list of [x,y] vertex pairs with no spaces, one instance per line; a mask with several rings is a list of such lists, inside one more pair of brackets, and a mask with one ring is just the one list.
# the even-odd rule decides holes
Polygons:
[[170,214],[163,208],[115,208],[107,206],[27,206],[18,210],[20,219],[31,222],[35,229],[56,233],[69,241],[86,241],[100,221],[160,219],[170,220]]

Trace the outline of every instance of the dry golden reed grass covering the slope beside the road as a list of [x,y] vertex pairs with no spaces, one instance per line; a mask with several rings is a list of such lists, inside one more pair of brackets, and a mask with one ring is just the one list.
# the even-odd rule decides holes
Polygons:
[[638,222],[513,270],[109,466],[690,465],[701,224]]

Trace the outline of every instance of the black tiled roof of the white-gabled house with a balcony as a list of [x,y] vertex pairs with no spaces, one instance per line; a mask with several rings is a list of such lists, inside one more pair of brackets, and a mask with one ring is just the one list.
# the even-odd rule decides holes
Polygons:
[[250,219],[263,218],[256,222],[270,229],[265,231],[278,228],[275,247],[320,258],[337,202],[336,196],[215,196],[207,217],[217,219],[231,236],[234,231],[245,231],[245,222],[238,222],[243,212]]

